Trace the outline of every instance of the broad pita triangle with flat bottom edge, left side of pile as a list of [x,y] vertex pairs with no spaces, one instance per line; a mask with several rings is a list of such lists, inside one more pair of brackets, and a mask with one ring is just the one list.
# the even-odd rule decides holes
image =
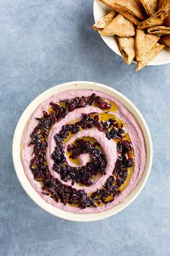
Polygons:
[[130,37],[135,35],[135,28],[130,21],[125,19],[121,14],[118,14],[112,22],[104,27],[100,34]]

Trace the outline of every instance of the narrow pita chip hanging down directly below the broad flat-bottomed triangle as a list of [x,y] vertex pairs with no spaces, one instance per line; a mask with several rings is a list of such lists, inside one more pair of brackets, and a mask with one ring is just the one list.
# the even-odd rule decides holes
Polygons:
[[117,36],[122,57],[126,64],[130,64],[135,58],[135,38],[120,38]]

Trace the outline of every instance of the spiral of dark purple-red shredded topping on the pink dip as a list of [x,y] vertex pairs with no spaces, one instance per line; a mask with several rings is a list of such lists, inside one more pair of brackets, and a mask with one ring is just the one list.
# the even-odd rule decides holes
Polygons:
[[[68,151],[73,157],[78,156],[81,153],[90,153],[91,162],[86,163],[86,166],[71,167],[66,163],[66,158],[63,150],[63,140],[70,135],[79,132],[80,129],[90,129],[91,127],[97,127],[99,131],[105,132],[108,139],[121,139],[117,143],[117,162],[115,163],[115,169],[113,170],[114,176],[110,176],[107,179],[102,189],[94,192],[91,197],[88,197],[84,190],[73,189],[72,187],[63,185],[58,179],[54,179],[51,176],[48,166],[46,164],[45,149],[48,146],[47,138],[50,132],[50,128],[56,121],[64,118],[69,111],[73,111],[75,108],[84,108],[87,105],[93,105],[94,103],[102,109],[109,109],[111,106],[103,98],[91,94],[88,97],[82,96],[73,99],[64,100],[63,103],[50,103],[53,111],[48,114],[47,111],[42,112],[41,118],[36,118],[38,121],[37,127],[30,135],[30,145],[34,147],[34,157],[30,161],[30,169],[35,179],[42,182],[42,189],[44,195],[53,197],[56,202],[63,202],[63,204],[75,204],[79,208],[97,207],[102,202],[107,204],[112,202],[120,193],[119,187],[125,182],[128,176],[128,168],[133,166],[134,160],[128,158],[128,152],[133,150],[133,145],[128,140],[123,140],[122,134],[125,133],[123,124],[121,126],[117,123],[116,119],[109,119],[108,121],[99,121],[99,114],[96,114],[94,118],[91,118],[90,114],[82,115],[81,121],[76,124],[66,124],[62,127],[58,135],[55,135],[55,151],[52,154],[54,161],[53,169],[61,175],[63,181],[68,182],[71,180],[71,184],[78,182],[80,184],[86,184],[89,186],[93,183],[93,176],[100,174],[106,174],[105,168],[107,161],[100,149],[98,142],[90,142],[86,140],[77,140],[75,145],[70,145]],[[95,114],[95,113],[94,113]],[[97,147],[97,148],[96,148]],[[115,185],[113,185],[113,183]],[[107,197],[112,195],[111,200],[107,200]]]

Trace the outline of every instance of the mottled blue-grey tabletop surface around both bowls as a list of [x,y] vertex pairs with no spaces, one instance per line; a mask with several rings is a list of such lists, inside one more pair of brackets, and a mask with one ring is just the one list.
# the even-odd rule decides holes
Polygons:
[[[0,0],[0,255],[170,255],[170,65],[135,72],[91,29],[93,2]],[[26,195],[12,136],[35,96],[71,80],[104,83],[130,98],[153,138],[146,187],[128,208],[94,223],[55,218]]]

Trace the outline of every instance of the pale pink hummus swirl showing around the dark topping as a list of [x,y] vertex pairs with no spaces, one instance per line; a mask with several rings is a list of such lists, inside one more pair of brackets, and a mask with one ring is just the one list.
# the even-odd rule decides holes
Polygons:
[[[75,98],[75,97],[81,97],[82,95],[88,96],[91,95],[91,93],[96,93],[96,95],[99,95],[100,97],[104,98],[107,101],[113,101],[118,106],[117,112],[111,112],[109,111],[109,114],[115,114],[119,119],[125,122],[126,127],[125,130],[130,135],[130,139],[133,143],[133,148],[135,152],[135,168],[133,170],[133,175],[130,178],[130,182],[128,186],[118,195],[113,202],[110,202],[107,205],[102,205],[97,208],[85,208],[80,209],[73,207],[71,205],[63,205],[61,202],[55,202],[53,198],[48,197],[48,195],[42,195],[42,187],[40,182],[37,182],[34,179],[34,176],[32,174],[32,171],[30,171],[30,160],[32,159],[32,151],[33,151],[33,145],[28,147],[30,143],[30,134],[32,133],[33,129],[37,125],[37,120],[35,117],[41,117],[42,111],[48,111],[50,108],[49,103],[51,101],[53,102],[59,102],[63,101],[68,98]],[[69,112],[64,119],[61,119],[61,121],[58,121],[55,123],[50,129],[50,134],[48,135],[48,149],[46,151],[46,158],[48,162],[48,168],[50,170],[50,173],[57,178],[61,183],[68,184],[71,186],[71,182],[64,182],[61,180],[61,177],[58,173],[53,171],[53,160],[51,159],[51,154],[53,153],[53,150],[55,148],[55,140],[53,139],[54,135],[58,133],[61,130],[61,127],[65,124],[70,123],[71,121],[74,121],[75,119],[81,118],[81,114],[90,114],[92,112],[102,113],[104,110],[94,107],[94,106],[86,106],[85,108],[77,108],[72,112]],[[82,130],[80,132],[77,132],[71,139],[66,142],[65,149],[67,148],[68,144],[71,144],[76,138],[79,137],[94,137],[99,144],[102,146],[102,149],[104,150],[104,154],[107,158],[107,168],[106,168],[106,174],[102,176],[102,178],[97,179],[94,184],[92,184],[89,187],[80,187],[78,184],[74,184],[72,187],[76,189],[84,189],[85,192],[95,192],[97,189],[100,189],[102,185],[107,181],[108,177],[112,175],[112,170],[114,169],[115,162],[117,160],[117,148],[114,140],[108,140],[106,135],[103,132],[99,132],[97,128],[91,128]],[[113,98],[110,95],[107,95],[105,93],[96,91],[96,90],[68,90],[63,93],[58,93],[57,95],[53,95],[52,97],[48,98],[46,101],[43,101],[40,106],[37,107],[37,109],[34,111],[34,113],[30,116],[30,119],[27,121],[27,124],[24,128],[24,132],[22,135],[22,151],[21,151],[21,158],[22,158],[22,164],[24,167],[24,172],[27,175],[27,178],[30,181],[30,184],[34,189],[37,191],[37,193],[45,200],[46,202],[54,205],[56,208],[61,208],[63,210],[67,210],[71,213],[99,213],[104,210],[108,210],[110,208],[113,208],[115,205],[122,202],[125,197],[127,197],[130,192],[133,191],[133,189],[136,187],[138,182],[141,179],[141,176],[143,175],[143,171],[146,166],[146,147],[145,147],[145,141],[143,138],[143,133],[141,132],[141,129],[138,125],[138,121],[135,119],[135,117],[130,114],[130,111],[125,108],[125,106],[118,101],[116,98]],[[83,154],[79,156],[81,166],[85,166],[86,162],[89,161],[89,155]],[[71,161],[67,160],[68,164],[73,166],[73,163]]]

